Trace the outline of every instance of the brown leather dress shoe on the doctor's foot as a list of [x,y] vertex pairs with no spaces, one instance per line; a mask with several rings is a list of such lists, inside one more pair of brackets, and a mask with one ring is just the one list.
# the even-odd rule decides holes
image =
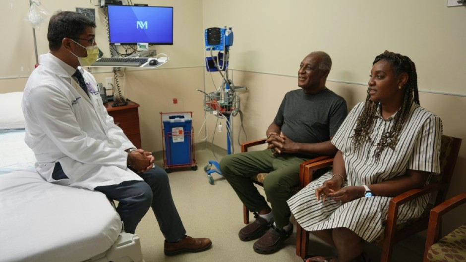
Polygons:
[[208,238],[192,238],[186,236],[176,243],[164,243],[164,253],[166,256],[174,256],[183,252],[201,252],[212,246],[212,241]]

